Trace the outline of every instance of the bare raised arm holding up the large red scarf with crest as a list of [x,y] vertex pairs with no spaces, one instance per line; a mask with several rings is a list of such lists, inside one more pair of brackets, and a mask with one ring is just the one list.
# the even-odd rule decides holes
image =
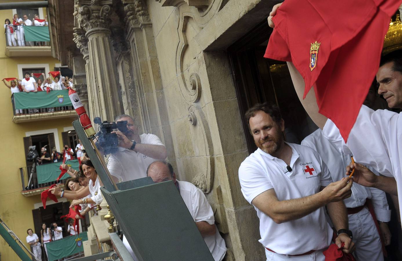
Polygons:
[[316,101],[316,94],[314,92],[314,88],[311,88],[308,94],[306,95],[306,98],[303,99],[304,86],[305,86],[304,79],[299,73],[299,71],[297,71],[293,63],[287,62],[287,67],[289,68],[293,86],[295,87],[301,105],[303,105],[304,109],[306,110],[310,118],[314,121],[314,123],[316,123],[316,125],[320,129],[324,128],[324,125],[328,118],[318,112],[318,105]]

